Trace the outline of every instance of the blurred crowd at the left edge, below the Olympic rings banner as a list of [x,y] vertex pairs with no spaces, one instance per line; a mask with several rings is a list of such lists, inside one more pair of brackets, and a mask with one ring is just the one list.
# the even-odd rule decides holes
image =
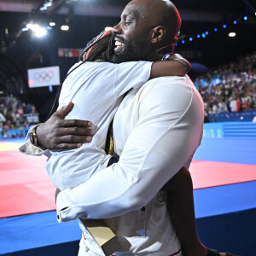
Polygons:
[[30,104],[21,102],[14,96],[0,97],[0,130],[2,137],[10,137],[8,130],[20,130],[12,133],[11,137],[24,137],[30,125],[29,116],[36,114],[36,108]]

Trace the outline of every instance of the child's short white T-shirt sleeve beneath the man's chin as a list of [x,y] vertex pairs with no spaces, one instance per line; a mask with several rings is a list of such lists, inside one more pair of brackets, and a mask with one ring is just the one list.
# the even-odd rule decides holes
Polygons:
[[148,82],[152,62],[131,61],[118,64],[118,72],[114,81],[114,93],[119,97],[131,88],[140,88]]

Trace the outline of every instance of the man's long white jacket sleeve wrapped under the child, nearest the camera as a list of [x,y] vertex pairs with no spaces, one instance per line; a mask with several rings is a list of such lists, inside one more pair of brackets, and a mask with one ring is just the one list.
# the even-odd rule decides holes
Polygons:
[[201,97],[189,79],[172,84],[168,78],[154,80],[140,96],[138,122],[119,162],[58,195],[60,222],[111,218],[139,209],[192,159],[201,143]]

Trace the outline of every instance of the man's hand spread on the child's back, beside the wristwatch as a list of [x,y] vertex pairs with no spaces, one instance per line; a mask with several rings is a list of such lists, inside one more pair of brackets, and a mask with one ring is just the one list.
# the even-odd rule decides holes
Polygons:
[[43,124],[38,125],[38,145],[50,150],[79,148],[83,143],[90,143],[95,131],[87,120],[64,119],[73,108],[73,103],[53,113]]

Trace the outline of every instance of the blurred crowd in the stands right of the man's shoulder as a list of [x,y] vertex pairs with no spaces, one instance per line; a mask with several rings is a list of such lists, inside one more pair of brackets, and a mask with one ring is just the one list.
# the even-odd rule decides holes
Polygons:
[[256,52],[195,79],[208,113],[256,108]]

